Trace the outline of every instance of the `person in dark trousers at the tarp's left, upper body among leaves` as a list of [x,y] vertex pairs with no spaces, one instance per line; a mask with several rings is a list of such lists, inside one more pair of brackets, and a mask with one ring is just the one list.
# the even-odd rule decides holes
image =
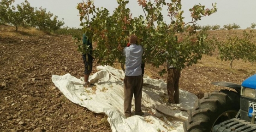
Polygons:
[[92,57],[92,42],[87,38],[86,34],[83,34],[83,44],[84,46],[89,45],[89,54],[83,54],[83,63],[84,63],[84,87],[89,87],[93,84],[89,82],[89,75],[92,71],[92,63],[93,63],[93,57]]

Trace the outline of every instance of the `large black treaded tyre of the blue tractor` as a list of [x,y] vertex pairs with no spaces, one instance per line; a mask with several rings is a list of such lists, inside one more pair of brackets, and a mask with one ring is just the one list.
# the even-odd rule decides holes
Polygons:
[[204,93],[202,99],[196,100],[193,109],[188,110],[188,120],[183,123],[185,132],[212,132],[213,126],[235,118],[240,109],[240,94],[220,90]]

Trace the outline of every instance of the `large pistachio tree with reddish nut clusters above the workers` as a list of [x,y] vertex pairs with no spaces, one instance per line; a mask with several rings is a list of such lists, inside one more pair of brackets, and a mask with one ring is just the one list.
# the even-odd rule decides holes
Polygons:
[[[159,67],[169,61],[182,69],[191,66],[202,58],[202,54],[211,51],[207,40],[207,32],[196,32],[196,22],[217,11],[216,3],[211,8],[198,4],[186,11],[191,12],[191,21],[184,22],[181,0],[138,0],[144,15],[133,16],[126,7],[129,0],[117,0],[118,6],[113,13],[106,8],[95,7],[92,0],[78,3],[80,26],[83,32],[97,46],[93,56],[101,65],[113,65],[115,62],[124,63],[122,50],[127,38],[136,34],[138,44],[143,45],[145,54],[143,61]],[[170,23],[163,21],[162,10],[168,9]],[[112,15],[110,15],[112,14]],[[185,32],[185,36],[177,33]],[[89,47],[76,37],[78,50],[89,53]],[[165,73],[162,69],[160,73]]]

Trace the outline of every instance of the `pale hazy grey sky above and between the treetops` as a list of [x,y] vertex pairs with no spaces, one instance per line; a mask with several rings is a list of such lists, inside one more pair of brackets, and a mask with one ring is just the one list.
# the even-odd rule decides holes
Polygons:
[[[15,0],[15,4],[19,4],[24,0]],[[54,15],[60,19],[64,18],[65,25],[68,27],[79,28],[79,13],[76,9],[77,3],[82,0],[28,0],[33,7],[47,8],[47,11],[51,11]],[[143,15],[141,6],[138,6],[137,0],[129,0],[127,8],[130,8],[132,16],[137,17]],[[166,0],[168,1],[171,0]],[[194,5],[201,3],[208,8],[212,7],[212,3],[217,3],[217,12],[211,16],[203,17],[199,25],[223,25],[226,24],[238,24],[241,29],[250,27],[251,23],[256,23],[256,0],[181,0],[182,9],[184,10],[183,17],[185,22],[191,21],[190,11]],[[105,7],[111,13],[114,8],[118,6],[116,0],[94,0],[96,7]],[[162,10],[162,14],[165,17],[165,21],[169,22],[167,17],[167,10]]]

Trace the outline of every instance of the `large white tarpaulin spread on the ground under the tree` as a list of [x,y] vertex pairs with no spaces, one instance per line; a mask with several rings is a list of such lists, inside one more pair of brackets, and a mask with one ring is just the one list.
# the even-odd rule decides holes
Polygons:
[[[52,76],[55,86],[73,103],[95,113],[105,113],[113,132],[184,132],[182,122],[187,119],[186,110],[194,106],[196,95],[179,90],[180,104],[166,104],[166,83],[163,80],[143,78],[143,116],[125,118],[122,70],[110,66],[97,66],[100,70],[89,77],[95,86],[84,88],[80,79],[66,74]],[[132,111],[134,110],[134,98]]]

